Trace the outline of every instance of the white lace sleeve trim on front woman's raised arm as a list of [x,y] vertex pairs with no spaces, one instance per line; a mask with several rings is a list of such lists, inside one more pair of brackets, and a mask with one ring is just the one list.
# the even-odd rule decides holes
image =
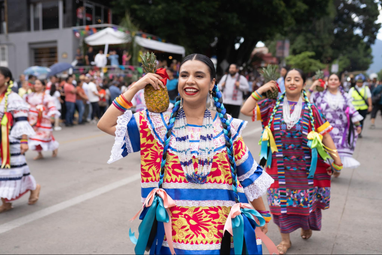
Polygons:
[[[131,110],[127,110],[123,115],[119,116],[117,119],[117,125],[115,126],[115,140],[113,144],[113,148],[111,151],[110,159],[107,161],[108,164],[111,164],[118,159],[123,158],[123,145],[126,144],[127,152],[133,152],[133,146],[131,146],[131,141],[129,138],[129,133],[127,132],[127,124],[131,120],[133,116],[133,112]],[[125,141],[123,138],[125,138]]]

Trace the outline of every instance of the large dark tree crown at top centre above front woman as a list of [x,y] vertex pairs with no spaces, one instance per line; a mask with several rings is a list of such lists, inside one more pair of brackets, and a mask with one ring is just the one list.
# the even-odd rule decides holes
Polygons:
[[114,0],[113,18],[126,8],[143,31],[183,45],[186,53],[217,55],[221,62],[244,63],[258,41],[284,27],[311,23],[329,0]]

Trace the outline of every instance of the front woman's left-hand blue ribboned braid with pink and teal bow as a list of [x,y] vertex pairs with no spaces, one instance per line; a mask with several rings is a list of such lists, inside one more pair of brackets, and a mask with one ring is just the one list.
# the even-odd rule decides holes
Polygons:
[[[165,175],[165,164],[167,158],[167,150],[170,143],[171,130],[174,126],[176,116],[180,108],[180,96],[176,98],[175,106],[172,110],[170,120],[167,127],[166,137],[164,139],[163,156],[160,162],[160,173],[158,188],[154,188],[141,208],[143,209],[139,219],[142,220],[139,225],[139,237],[134,236],[135,232],[129,230],[129,237],[131,242],[135,244],[135,254],[144,254],[145,250],[150,254],[159,254],[162,247],[164,237],[166,236],[168,247],[171,254],[175,254],[175,250],[172,244],[172,223],[171,213],[168,208],[175,206],[175,202],[172,198],[162,189],[163,178]],[[133,221],[138,217],[137,214],[131,219]]]

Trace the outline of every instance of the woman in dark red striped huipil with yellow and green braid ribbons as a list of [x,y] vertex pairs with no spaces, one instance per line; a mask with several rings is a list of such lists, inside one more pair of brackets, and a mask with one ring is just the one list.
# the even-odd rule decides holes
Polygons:
[[[277,99],[260,101],[261,94],[275,91],[275,81],[257,89],[244,103],[241,113],[261,120],[261,161],[275,180],[268,189],[268,204],[280,229],[280,254],[291,247],[289,233],[301,229],[309,239],[321,229],[321,210],[329,208],[330,175],[342,162],[329,135],[332,126],[309,102],[304,91],[305,75],[291,69],[285,75],[285,92]],[[332,166],[325,160],[334,159]]]

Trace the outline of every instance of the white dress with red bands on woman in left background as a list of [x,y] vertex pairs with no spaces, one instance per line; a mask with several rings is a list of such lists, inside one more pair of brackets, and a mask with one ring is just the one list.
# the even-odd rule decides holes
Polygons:
[[[29,123],[33,125],[36,132],[36,135],[31,136],[28,140],[29,148],[32,150],[54,151],[59,144],[53,137],[50,117],[52,115],[61,115],[56,109],[54,98],[45,93],[31,93],[24,96],[24,98],[30,106]],[[40,122],[38,122],[39,110],[36,107],[44,107]],[[41,148],[39,148],[39,145]]]

